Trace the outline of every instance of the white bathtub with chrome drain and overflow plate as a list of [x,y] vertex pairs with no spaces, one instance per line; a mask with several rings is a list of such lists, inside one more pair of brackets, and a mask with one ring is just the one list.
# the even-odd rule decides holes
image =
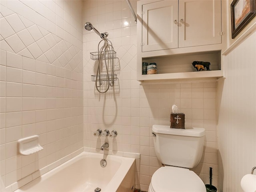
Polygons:
[[[100,166],[103,157],[105,167]],[[94,192],[97,187],[101,192],[130,192],[134,180],[134,158],[82,152],[15,192]]]

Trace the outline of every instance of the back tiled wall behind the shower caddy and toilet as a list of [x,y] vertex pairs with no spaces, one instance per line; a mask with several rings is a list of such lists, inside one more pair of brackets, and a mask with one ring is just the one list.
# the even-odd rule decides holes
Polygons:
[[[131,1],[136,10],[136,0]],[[124,22],[128,22],[125,25]],[[118,136],[110,142],[110,150],[140,153],[136,170],[136,188],[148,190],[153,173],[160,163],[154,152],[151,135],[153,124],[169,125],[170,110],[176,104],[186,114],[187,127],[206,129],[204,154],[193,170],[205,183],[209,167],[214,168],[217,183],[216,82],[142,85],[136,80],[136,24],[124,0],[84,1],[83,24],[91,22],[100,32],[107,31],[117,52],[115,68],[119,81],[113,91],[99,94],[91,82],[94,61],[90,52],[97,51],[100,38],[83,30],[84,59],[84,146],[99,150],[104,138],[95,138],[98,128],[115,129]]]

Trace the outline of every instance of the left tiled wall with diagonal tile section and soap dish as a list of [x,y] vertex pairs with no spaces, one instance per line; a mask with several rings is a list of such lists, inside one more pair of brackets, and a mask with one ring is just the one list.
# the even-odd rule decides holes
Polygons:
[[[83,146],[82,2],[1,0],[0,13],[0,190],[14,191]],[[44,150],[17,155],[35,134]]]

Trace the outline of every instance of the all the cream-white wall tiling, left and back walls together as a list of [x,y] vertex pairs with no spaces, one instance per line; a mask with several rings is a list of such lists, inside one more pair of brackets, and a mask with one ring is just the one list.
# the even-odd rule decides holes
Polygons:
[[[131,3],[136,10],[136,0]],[[186,126],[207,130],[204,155],[195,172],[208,183],[208,167],[217,169],[216,84],[140,86],[136,24],[125,1],[91,0],[82,6],[80,1],[12,0],[1,1],[0,12],[0,165],[5,186],[80,148],[84,122],[85,147],[98,150],[104,139],[97,140],[92,132],[108,128],[118,131],[118,137],[109,139],[113,154],[141,154],[136,160],[136,188],[147,190],[160,166],[151,126],[169,124],[173,104],[185,112]],[[118,86],[106,96],[90,82],[94,74],[90,52],[97,50],[100,38],[82,29],[85,22],[109,33],[119,58]],[[32,134],[39,134],[45,150],[17,156],[16,140]],[[73,134],[80,136],[73,140]],[[62,147],[57,148],[57,141]],[[214,172],[215,186],[216,177]],[[31,180],[26,178],[20,184]]]

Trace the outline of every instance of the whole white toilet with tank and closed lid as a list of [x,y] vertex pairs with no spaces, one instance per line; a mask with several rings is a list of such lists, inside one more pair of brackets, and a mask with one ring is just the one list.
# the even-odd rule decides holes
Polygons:
[[204,182],[189,170],[202,157],[205,129],[153,125],[152,131],[156,156],[164,166],[154,172],[148,192],[206,192]]

